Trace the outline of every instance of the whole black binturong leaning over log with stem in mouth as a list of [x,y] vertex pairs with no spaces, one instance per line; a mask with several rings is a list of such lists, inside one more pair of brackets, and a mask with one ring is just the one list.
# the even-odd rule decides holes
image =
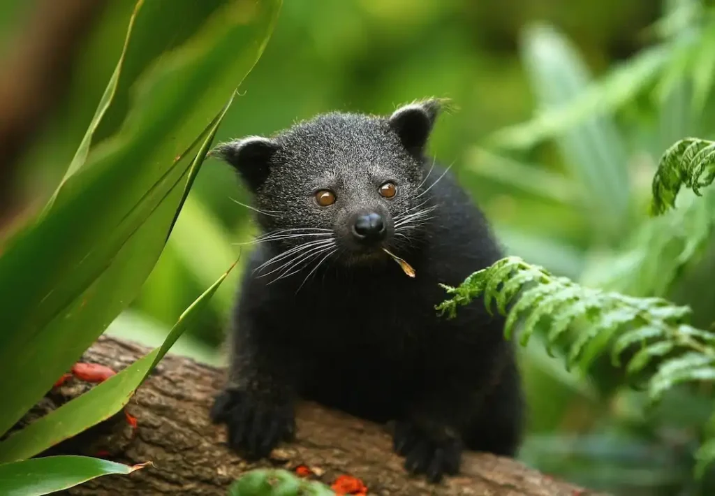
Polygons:
[[503,318],[476,300],[455,318],[435,311],[440,283],[502,257],[483,213],[426,154],[440,110],[428,99],[385,116],[332,112],[215,149],[262,231],[211,412],[243,457],[294,439],[299,399],[392,424],[405,469],[430,482],[457,474],[463,449],[516,454],[523,395]]

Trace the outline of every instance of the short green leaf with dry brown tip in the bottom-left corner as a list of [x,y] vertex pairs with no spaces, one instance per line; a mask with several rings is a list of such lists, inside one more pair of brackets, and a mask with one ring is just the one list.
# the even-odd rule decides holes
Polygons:
[[4,496],[48,495],[102,475],[128,475],[147,464],[122,465],[104,459],[78,456],[43,457],[0,464]]

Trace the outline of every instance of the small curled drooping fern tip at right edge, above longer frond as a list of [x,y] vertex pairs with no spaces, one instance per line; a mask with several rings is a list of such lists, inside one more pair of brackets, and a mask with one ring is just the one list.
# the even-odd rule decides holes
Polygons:
[[661,215],[675,206],[682,186],[701,195],[715,180],[715,142],[689,137],[672,145],[661,157],[653,178],[654,215]]

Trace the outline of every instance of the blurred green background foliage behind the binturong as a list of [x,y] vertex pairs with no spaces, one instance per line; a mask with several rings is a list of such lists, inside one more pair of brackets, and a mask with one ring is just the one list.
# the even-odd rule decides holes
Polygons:
[[[38,36],[38,12],[63,2],[77,3],[0,2],[0,118],[14,108],[2,89],[46,63],[16,56],[33,53],[23,50]],[[0,250],[61,180],[117,62],[133,2],[99,3],[30,137],[14,160],[0,161]],[[156,29],[192,29],[191,18],[176,11]],[[666,147],[713,139],[714,79],[707,1],[288,1],[217,140],[268,135],[318,112],[387,113],[450,97],[458,111],[441,118],[431,150],[453,164],[509,253],[586,285],[690,304],[703,327],[715,321],[714,195],[681,195],[661,218],[649,218],[647,203]],[[237,202],[250,203],[246,191],[208,160],[141,296],[107,332],[159,345],[195,295],[250,250],[240,243],[255,226]],[[220,363],[240,273],[173,351]],[[608,360],[567,372],[536,340],[521,360],[526,463],[619,495],[715,494],[712,475],[692,475],[711,391],[676,389],[646,411]]]

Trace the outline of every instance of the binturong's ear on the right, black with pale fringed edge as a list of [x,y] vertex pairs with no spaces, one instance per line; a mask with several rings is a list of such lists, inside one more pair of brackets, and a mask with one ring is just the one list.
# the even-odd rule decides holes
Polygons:
[[395,110],[388,122],[400,137],[403,146],[409,152],[419,154],[427,145],[440,110],[442,104],[438,99],[410,103]]

